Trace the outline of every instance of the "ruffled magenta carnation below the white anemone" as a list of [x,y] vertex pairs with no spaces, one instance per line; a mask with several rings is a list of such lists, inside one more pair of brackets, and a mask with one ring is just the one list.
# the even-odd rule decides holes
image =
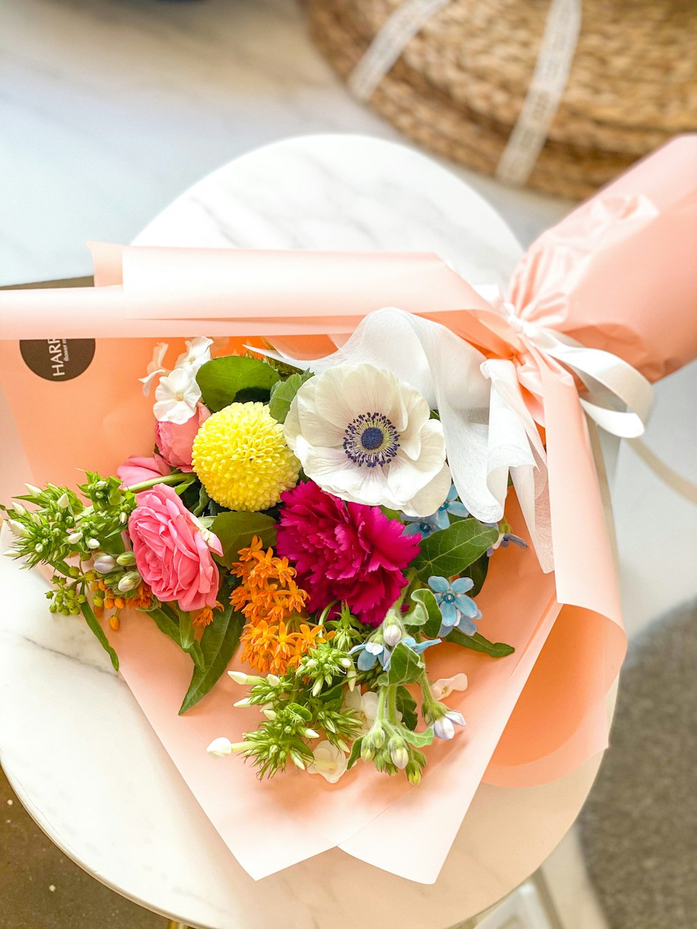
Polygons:
[[311,481],[281,499],[276,552],[295,564],[309,609],[346,600],[361,622],[379,626],[407,582],[419,536],[404,535],[378,506],[347,504]]

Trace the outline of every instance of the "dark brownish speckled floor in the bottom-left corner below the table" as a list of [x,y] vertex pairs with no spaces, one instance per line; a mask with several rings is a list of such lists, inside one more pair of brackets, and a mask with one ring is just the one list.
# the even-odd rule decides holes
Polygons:
[[166,920],[114,894],[34,823],[0,768],[0,929],[164,929]]

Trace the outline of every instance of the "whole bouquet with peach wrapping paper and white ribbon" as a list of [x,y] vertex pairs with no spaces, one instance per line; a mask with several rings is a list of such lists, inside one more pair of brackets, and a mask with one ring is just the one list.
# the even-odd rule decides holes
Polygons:
[[25,450],[51,412],[22,418],[13,340],[60,343],[59,313],[103,365],[84,446],[7,501],[9,554],[119,662],[254,877],[339,846],[434,881],[482,779],[605,747],[625,636],[598,427],[638,436],[649,381],[697,356],[696,145],[545,233],[505,294],[435,255],[110,246],[94,289],[1,295]]

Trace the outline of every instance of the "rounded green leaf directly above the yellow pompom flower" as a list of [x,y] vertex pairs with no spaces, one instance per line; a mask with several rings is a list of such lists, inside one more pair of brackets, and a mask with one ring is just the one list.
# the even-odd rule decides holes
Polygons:
[[211,412],[217,412],[235,401],[267,402],[271,387],[279,373],[256,358],[226,355],[206,361],[196,374],[201,387],[201,399]]

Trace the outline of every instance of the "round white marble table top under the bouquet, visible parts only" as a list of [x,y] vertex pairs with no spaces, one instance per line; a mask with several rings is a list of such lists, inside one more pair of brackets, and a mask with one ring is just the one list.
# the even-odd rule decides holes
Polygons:
[[[486,204],[454,177],[409,150],[360,137],[297,139],[233,162],[180,197],[138,241],[433,250],[473,282],[495,281],[493,268],[505,279],[520,252]],[[656,433],[677,465],[695,448],[692,430],[676,428],[690,377],[694,371],[664,385],[678,409],[672,427],[670,417],[659,417]],[[630,497],[627,505],[618,496],[620,548],[630,553],[623,576],[637,603],[648,596],[651,608],[660,608],[695,592],[695,536],[685,525],[685,504],[677,506],[642,468],[631,456],[621,459],[620,488]],[[629,539],[650,511],[651,532],[664,545],[658,556]],[[685,544],[675,546],[666,520],[677,512]],[[649,576],[669,545],[676,576]],[[544,787],[483,785],[433,886],[405,882],[338,850],[255,883],[193,800],[92,635],[80,622],[50,616],[42,583],[0,560],[0,758],[8,778],[51,839],[86,870],[182,922],[206,929],[348,929],[357,922],[366,929],[444,929],[491,906],[544,860],[595,776],[599,757]],[[646,607],[644,613],[652,615]]]

